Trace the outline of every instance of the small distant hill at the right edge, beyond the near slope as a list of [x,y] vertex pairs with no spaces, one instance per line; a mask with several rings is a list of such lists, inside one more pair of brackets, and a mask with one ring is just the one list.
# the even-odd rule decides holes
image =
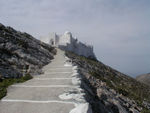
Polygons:
[[142,83],[145,83],[150,86],[150,73],[144,74],[144,75],[139,75],[136,77],[136,79]]

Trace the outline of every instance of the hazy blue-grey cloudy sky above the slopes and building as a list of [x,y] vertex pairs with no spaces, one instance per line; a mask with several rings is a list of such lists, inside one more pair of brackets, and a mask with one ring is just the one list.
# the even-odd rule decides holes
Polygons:
[[36,38],[69,30],[103,63],[150,72],[150,0],[0,0],[0,22]]

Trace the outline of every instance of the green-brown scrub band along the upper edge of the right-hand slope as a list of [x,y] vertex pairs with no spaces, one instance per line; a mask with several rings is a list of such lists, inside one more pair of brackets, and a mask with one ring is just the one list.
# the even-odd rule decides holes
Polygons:
[[73,60],[76,60],[76,63],[82,68],[88,70],[90,75],[105,82],[109,88],[134,100],[143,108],[142,113],[150,113],[150,111],[143,106],[144,101],[150,102],[149,86],[142,84],[97,60],[88,59],[70,52],[66,52],[66,55]]

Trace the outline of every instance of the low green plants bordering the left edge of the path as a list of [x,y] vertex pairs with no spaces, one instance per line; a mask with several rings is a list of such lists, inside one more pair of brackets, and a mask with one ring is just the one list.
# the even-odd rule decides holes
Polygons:
[[27,80],[32,79],[30,74],[26,74],[20,78],[8,78],[0,81],[0,99],[2,99],[7,94],[7,87],[14,84],[14,83],[22,83]]

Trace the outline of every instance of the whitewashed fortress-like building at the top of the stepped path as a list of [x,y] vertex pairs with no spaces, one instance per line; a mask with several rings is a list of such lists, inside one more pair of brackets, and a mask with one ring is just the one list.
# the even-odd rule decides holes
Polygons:
[[81,56],[96,58],[93,52],[93,46],[79,42],[77,38],[72,36],[71,32],[66,31],[63,35],[51,33],[49,39],[50,45],[54,47],[71,51]]

